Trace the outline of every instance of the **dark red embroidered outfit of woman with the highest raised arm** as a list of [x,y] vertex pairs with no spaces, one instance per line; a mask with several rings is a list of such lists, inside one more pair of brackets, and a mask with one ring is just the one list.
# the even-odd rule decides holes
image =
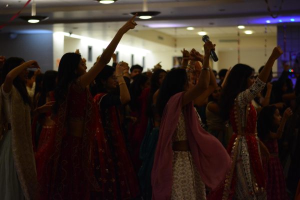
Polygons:
[[[70,196],[73,197],[72,199],[89,199],[90,191],[100,191],[101,189],[93,174],[93,153],[96,144],[95,135],[103,134],[103,129],[97,124],[98,117],[94,111],[96,107],[89,90],[85,88],[81,91],[81,95],[74,95],[72,93],[78,93],[78,91],[74,91],[73,84],[75,83],[69,86],[66,99],[59,105],[54,120],[54,152],[46,166],[46,171],[49,171],[48,175],[50,176],[47,189],[51,195],[48,196],[48,199],[68,199]],[[70,99],[70,96],[78,99]],[[68,105],[70,101],[80,102],[81,98],[83,101],[86,99],[84,108],[80,107],[85,110],[84,130],[82,137],[76,139],[68,132]],[[77,109],[77,107],[72,106],[71,108]],[[75,159],[75,157],[77,158]],[[71,175],[73,172],[82,174],[73,176]],[[78,190],[77,188],[80,186],[83,186],[83,189]]]

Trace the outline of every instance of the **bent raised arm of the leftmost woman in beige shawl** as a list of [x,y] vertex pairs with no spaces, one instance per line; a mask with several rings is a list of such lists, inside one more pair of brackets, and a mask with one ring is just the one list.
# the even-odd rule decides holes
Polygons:
[[18,76],[18,74],[20,74],[26,68],[39,68],[39,66],[35,60],[29,60],[9,71],[3,83],[3,90],[6,93],[11,90],[14,78],[16,78],[16,76]]

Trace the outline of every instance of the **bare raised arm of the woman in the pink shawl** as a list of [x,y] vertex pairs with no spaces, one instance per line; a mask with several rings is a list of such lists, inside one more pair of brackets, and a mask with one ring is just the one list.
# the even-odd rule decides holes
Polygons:
[[197,84],[192,87],[191,89],[188,89],[182,99],[182,105],[186,105],[190,101],[194,100],[199,95],[202,95],[203,91],[208,88],[209,80],[210,80],[210,71],[209,68],[209,55],[210,55],[210,49],[214,49],[214,44],[211,43],[211,41],[207,41],[204,43],[204,59],[203,59],[203,65],[201,69],[201,73],[199,75],[199,81]]

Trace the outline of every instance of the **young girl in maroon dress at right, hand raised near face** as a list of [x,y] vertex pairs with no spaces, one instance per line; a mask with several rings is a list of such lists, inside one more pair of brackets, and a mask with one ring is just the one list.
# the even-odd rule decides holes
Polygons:
[[262,166],[266,175],[266,198],[269,200],[286,200],[287,192],[283,167],[278,157],[278,141],[281,138],[285,122],[292,114],[288,107],[281,119],[275,105],[267,105],[261,109],[257,118],[257,134],[270,153],[265,159],[262,157]]

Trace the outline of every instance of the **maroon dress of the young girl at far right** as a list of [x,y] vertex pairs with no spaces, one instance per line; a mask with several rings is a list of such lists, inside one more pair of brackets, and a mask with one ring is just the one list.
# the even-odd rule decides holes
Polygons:
[[269,200],[286,200],[288,199],[285,191],[285,179],[283,168],[278,157],[277,139],[269,139],[263,141],[264,145],[270,152],[270,158],[267,163],[264,163],[266,173],[266,197]]

